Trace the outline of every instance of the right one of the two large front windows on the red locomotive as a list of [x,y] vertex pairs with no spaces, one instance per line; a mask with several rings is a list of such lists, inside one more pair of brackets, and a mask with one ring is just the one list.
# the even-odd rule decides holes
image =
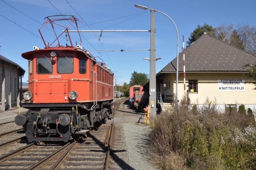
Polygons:
[[57,73],[73,73],[73,57],[58,57],[57,59]]

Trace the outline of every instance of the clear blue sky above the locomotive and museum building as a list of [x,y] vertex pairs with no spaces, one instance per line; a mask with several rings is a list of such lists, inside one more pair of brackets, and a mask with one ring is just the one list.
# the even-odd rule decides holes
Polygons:
[[[28,61],[21,54],[33,46],[44,48],[38,29],[46,16],[74,15],[82,20],[81,30],[149,30],[150,11],[134,4],[172,18],[179,32],[180,53],[183,35],[186,44],[198,25],[256,26],[255,0],[0,0],[0,54],[26,70],[22,78],[26,82]],[[176,57],[177,33],[172,21],[159,12],[155,12],[155,29],[156,58],[162,58],[156,62],[157,73]],[[81,46],[104,60],[117,84],[129,83],[134,71],[149,74],[149,62],[143,59],[150,55],[149,32],[103,32],[100,41],[100,32],[83,32],[82,36]],[[100,51],[104,49],[114,51]]]

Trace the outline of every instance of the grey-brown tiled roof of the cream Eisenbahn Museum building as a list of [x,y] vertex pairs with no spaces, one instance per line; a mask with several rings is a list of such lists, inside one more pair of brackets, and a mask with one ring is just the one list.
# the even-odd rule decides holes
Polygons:
[[[203,34],[185,49],[186,72],[241,72],[243,64],[255,64],[256,56]],[[177,57],[160,73],[176,72]],[[179,72],[183,72],[183,52],[179,54]]]

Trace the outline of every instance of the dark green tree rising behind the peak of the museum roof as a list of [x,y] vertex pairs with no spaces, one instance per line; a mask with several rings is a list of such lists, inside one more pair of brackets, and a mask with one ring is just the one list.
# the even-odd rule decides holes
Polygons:
[[216,28],[212,28],[212,26],[205,23],[203,26],[198,25],[197,28],[190,33],[189,41],[186,42],[187,45],[190,46],[196,39],[201,37],[204,34],[204,32],[216,37]]

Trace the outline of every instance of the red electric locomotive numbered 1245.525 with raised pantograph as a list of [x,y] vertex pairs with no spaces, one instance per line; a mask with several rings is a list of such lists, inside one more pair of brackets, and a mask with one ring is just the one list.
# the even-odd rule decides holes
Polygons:
[[[64,27],[57,21],[68,21],[68,26]],[[28,60],[29,84],[21,106],[29,110],[26,114],[18,114],[15,123],[25,128],[29,142],[67,142],[112,113],[113,73],[81,48],[78,21],[74,16],[46,17],[41,28],[49,23],[55,40],[48,43],[40,28],[45,48],[34,47],[33,51],[22,54]],[[56,31],[58,26],[62,29],[60,34]],[[78,45],[71,41],[70,34],[74,33],[68,30],[70,26],[77,29]],[[64,46],[61,45],[63,39]],[[54,43],[57,45],[53,46]]]

